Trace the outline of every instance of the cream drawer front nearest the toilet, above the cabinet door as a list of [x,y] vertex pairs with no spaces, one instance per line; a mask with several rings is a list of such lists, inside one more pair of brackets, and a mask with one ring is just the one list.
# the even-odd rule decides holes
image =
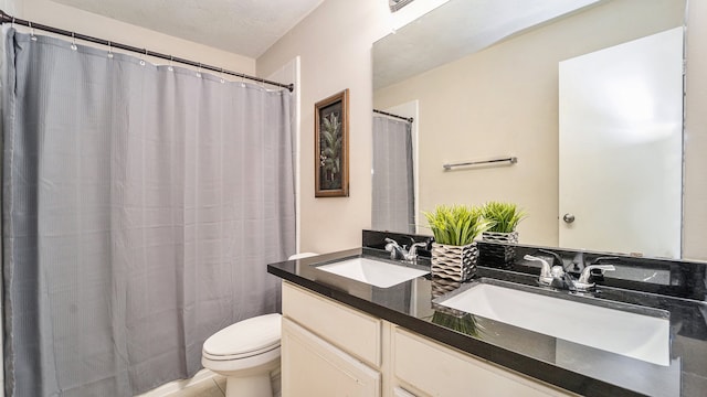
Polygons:
[[380,367],[381,320],[283,282],[283,315],[347,351]]

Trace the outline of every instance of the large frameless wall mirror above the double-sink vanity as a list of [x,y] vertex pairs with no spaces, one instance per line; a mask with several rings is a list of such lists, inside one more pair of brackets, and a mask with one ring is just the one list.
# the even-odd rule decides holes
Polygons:
[[[621,82],[633,82],[625,86],[609,84],[609,77],[601,82],[603,69],[598,74],[599,77],[592,77],[599,79],[584,78],[597,72],[600,68],[598,66],[583,72],[574,71],[574,74],[562,77],[566,82],[592,82],[589,85],[599,87],[592,94],[599,107],[615,109],[611,104],[624,98],[623,103],[630,105],[627,108],[642,108],[644,114],[650,114],[648,118],[666,112],[663,110],[668,108],[673,115],[677,115],[677,121],[671,125],[677,133],[677,140],[673,139],[668,146],[663,146],[663,151],[657,152],[662,154],[648,155],[646,163],[631,161],[634,159],[635,147],[631,146],[630,140],[624,140],[611,151],[600,149],[604,154],[609,153],[608,158],[621,160],[618,163],[610,164],[603,160],[591,163],[590,160],[597,160],[597,155],[589,151],[571,152],[569,159],[568,155],[563,158],[561,153],[570,151],[561,149],[564,138],[560,138],[560,120],[566,117],[561,112],[569,106],[564,104],[567,98],[563,99],[560,93],[564,89],[562,87],[570,84],[560,81],[564,74],[561,71],[569,68],[566,66],[570,64],[570,60],[589,57],[589,54],[602,53],[608,49],[612,49],[611,52],[614,53],[622,52],[616,49],[622,49],[626,43],[643,43],[641,45],[644,47],[653,47],[653,42],[648,41],[646,44],[641,40],[669,31],[674,32],[673,37],[676,39],[668,44],[673,46],[669,52],[677,54],[682,63],[686,14],[687,0],[450,0],[374,43],[374,108],[413,117],[413,122],[408,128],[412,142],[409,149],[411,154],[404,154],[413,163],[413,176],[410,180],[413,187],[405,187],[411,192],[411,197],[404,204],[412,205],[413,216],[404,223],[407,226],[390,228],[397,228],[395,232],[409,233],[416,229],[429,233],[421,214],[432,211],[436,205],[478,205],[488,201],[507,201],[519,204],[529,214],[518,229],[521,244],[650,257],[680,257],[685,248],[680,240],[682,219],[689,216],[684,214],[686,207],[683,205],[682,192],[685,190],[680,172],[683,161],[690,161],[682,152],[682,65],[678,71],[678,92],[672,92],[673,99],[663,105],[657,99],[664,99],[667,95],[631,88],[642,87],[640,82],[636,83],[643,75],[640,71],[630,78],[619,78]],[[641,49],[641,45],[634,45],[633,49]],[[637,50],[637,55],[641,58],[644,54]],[[653,63],[645,58],[639,63],[641,62]],[[658,76],[664,74],[666,73],[657,72]],[[602,86],[612,89],[601,88]],[[573,98],[573,94],[570,97]],[[594,110],[589,114],[593,115]],[[580,114],[587,116],[588,112]],[[619,118],[624,114],[624,110],[620,110],[610,118]],[[593,122],[592,118],[593,116],[589,119]],[[584,125],[589,119],[582,119],[578,124]],[[657,124],[664,127],[668,122]],[[374,127],[374,135],[377,129],[380,128]],[[598,139],[600,135],[597,131],[605,132],[599,129],[585,133],[580,148],[583,146],[589,150],[594,147],[594,138]],[[389,149],[380,147],[376,138],[373,141],[374,157],[386,157]],[[386,144],[399,149],[403,143]],[[443,168],[445,163],[505,157],[515,157],[518,162],[451,171]],[[661,172],[667,159],[671,159],[672,165],[665,167],[675,169],[677,164],[678,173],[656,178],[655,174]],[[578,178],[592,181],[589,187],[569,187],[568,183],[561,183],[567,180],[562,170],[568,170],[568,161],[578,164],[579,169],[594,172],[593,179]],[[621,178],[641,181],[635,186],[652,185],[653,189],[631,187],[627,193],[619,193],[616,186],[621,182],[614,181],[613,185],[601,182],[609,181],[612,174],[619,174],[620,171],[634,172],[633,176],[625,173]],[[373,172],[377,172],[376,167]],[[373,183],[374,196],[381,185],[390,186],[393,184],[391,181],[399,180],[392,178],[382,184]],[[563,189],[587,201],[573,210],[563,207],[563,200],[568,195],[563,193]],[[657,194],[651,192],[666,190],[677,192],[671,193],[676,203],[671,204],[671,208],[664,202],[646,200]],[[597,196],[611,200],[597,203]],[[583,208],[590,208],[590,204],[599,206],[583,212]],[[402,212],[402,204],[389,205]],[[376,207],[376,203],[373,206]],[[657,229],[669,229],[667,235],[674,237],[671,243],[673,248],[656,248],[655,240],[629,243],[627,238],[622,237],[633,232],[611,235],[608,232],[618,229],[618,224],[627,223],[616,221],[619,215],[609,216],[602,221],[603,229],[591,233],[601,235],[603,239],[582,242],[563,237],[563,233],[579,228],[582,221],[599,217],[598,214],[604,212],[611,213],[610,208],[614,214],[625,213],[634,218],[642,218],[642,223],[629,225],[629,230],[639,233],[646,224],[652,224]],[[635,208],[643,212],[634,212]],[[372,215],[373,227],[380,224],[380,212],[384,210],[378,207],[376,211]],[[570,212],[577,216],[573,224],[562,219]],[[687,258],[707,259],[694,256]]]

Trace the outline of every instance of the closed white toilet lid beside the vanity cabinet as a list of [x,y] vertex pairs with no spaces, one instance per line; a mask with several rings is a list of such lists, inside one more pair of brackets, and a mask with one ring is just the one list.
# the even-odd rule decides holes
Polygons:
[[203,343],[210,356],[249,356],[279,346],[281,318],[278,313],[240,321],[211,335]]

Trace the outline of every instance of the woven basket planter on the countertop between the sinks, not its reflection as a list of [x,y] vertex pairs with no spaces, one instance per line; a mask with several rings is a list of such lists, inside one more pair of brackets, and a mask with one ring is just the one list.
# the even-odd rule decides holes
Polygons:
[[451,246],[432,243],[432,276],[454,281],[466,281],[476,271],[478,247],[476,243]]

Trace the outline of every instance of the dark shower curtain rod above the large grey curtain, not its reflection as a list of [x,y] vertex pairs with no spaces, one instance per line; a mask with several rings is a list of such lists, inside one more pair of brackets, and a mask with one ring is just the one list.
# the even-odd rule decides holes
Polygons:
[[243,74],[243,73],[226,71],[223,67],[215,67],[215,66],[202,64],[200,62],[194,62],[194,61],[189,61],[189,60],[184,60],[184,58],[180,58],[180,57],[176,57],[176,56],[171,56],[171,55],[160,54],[158,52],[148,51],[146,49],[138,49],[138,47],[135,47],[135,46],[131,46],[131,45],[127,45],[127,44],[116,43],[116,42],[112,42],[112,41],[108,41],[108,40],[97,39],[97,37],[85,35],[85,34],[81,34],[81,33],[70,32],[70,31],[66,31],[66,30],[63,30],[63,29],[43,25],[41,23],[34,23],[34,22],[31,22],[31,21],[27,21],[27,20],[22,20],[22,19],[19,19],[19,18],[14,18],[12,15],[9,15],[8,13],[6,13],[2,10],[0,10],[0,24],[1,23],[13,23],[13,24],[17,23],[17,24],[21,24],[21,25],[24,25],[24,26],[29,26],[30,29],[39,29],[39,30],[43,30],[45,32],[51,32],[51,33],[65,35],[65,36],[72,37],[72,39],[78,39],[78,40],[83,40],[83,41],[87,41],[87,42],[92,42],[92,43],[96,43],[96,44],[101,44],[101,45],[106,45],[109,49],[119,49],[119,50],[130,51],[130,52],[139,53],[139,54],[143,54],[143,55],[147,55],[147,56],[155,56],[155,57],[167,60],[167,61],[170,61],[170,62],[177,62],[177,63],[180,63],[180,64],[199,67],[199,68],[202,68],[202,69],[208,69],[208,71],[212,71],[212,72],[218,72],[218,73],[224,73],[224,74],[228,74],[228,75],[231,75],[231,76],[236,76],[236,77],[241,77],[241,78],[247,78],[250,81],[254,81],[254,82],[258,82],[258,83],[263,83],[263,84],[268,84],[268,85],[273,85],[273,86],[277,86],[277,87],[287,88],[289,92],[292,92],[295,88],[294,84],[277,83],[277,82],[268,81],[268,79],[265,79],[265,78],[249,76],[249,75]]

